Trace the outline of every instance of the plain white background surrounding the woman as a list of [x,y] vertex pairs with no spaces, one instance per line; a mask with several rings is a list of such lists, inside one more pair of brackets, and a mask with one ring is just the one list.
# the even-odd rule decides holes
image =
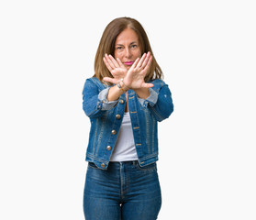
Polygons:
[[0,219],[83,220],[82,89],[106,25],[146,29],[174,112],[160,220],[256,219],[255,1],[0,3]]

